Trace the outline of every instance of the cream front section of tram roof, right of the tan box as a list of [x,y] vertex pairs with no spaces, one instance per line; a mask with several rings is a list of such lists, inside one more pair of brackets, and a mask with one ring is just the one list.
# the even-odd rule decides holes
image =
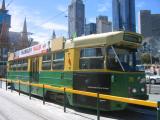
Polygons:
[[92,34],[88,36],[77,37],[67,40],[65,43],[65,49],[69,48],[81,48],[91,46],[113,45],[123,42],[124,33],[134,34],[142,37],[140,34],[124,31],[108,32],[101,34]]

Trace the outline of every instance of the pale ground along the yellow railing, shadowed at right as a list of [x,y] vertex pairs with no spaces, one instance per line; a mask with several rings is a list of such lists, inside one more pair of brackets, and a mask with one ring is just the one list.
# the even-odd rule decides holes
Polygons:
[[[1,86],[1,84],[0,84]],[[5,84],[0,89],[0,120],[96,120],[96,111],[67,108],[63,112],[63,106],[46,102],[43,105],[41,99],[33,98],[10,89],[5,90]],[[157,87],[157,86],[155,86]],[[159,95],[150,94],[150,100],[157,101]],[[143,111],[143,110],[142,110]],[[124,110],[114,112],[101,112],[101,120],[155,120],[156,114],[138,113],[136,110]]]

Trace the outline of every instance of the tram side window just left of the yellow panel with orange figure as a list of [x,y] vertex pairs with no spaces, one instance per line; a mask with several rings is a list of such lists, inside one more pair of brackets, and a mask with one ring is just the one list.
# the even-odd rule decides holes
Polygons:
[[54,53],[52,69],[53,70],[64,69],[64,51]]

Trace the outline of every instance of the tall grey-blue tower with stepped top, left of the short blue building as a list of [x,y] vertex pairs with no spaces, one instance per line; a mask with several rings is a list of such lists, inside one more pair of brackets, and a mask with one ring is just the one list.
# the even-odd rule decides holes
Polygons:
[[82,0],[72,0],[68,7],[69,38],[82,36],[85,27],[85,5]]

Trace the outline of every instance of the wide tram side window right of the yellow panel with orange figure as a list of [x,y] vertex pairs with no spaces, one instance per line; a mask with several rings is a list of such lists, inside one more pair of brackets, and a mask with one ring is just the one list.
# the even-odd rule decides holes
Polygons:
[[103,48],[83,48],[80,51],[80,69],[103,69]]

